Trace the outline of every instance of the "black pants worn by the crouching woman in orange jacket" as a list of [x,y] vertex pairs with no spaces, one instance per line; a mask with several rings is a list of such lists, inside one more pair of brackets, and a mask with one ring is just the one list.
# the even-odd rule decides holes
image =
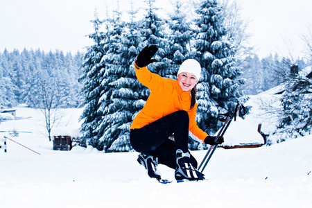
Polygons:
[[[168,139],[174,133],[175,141]],[[139,153],[158,157],[159,164],[175,169],[175,151],[187,150],[189,141],[189,114],[179,110],[142,128],[130,131],[130,143]],[[191,155],[191,164],[197,161]]]

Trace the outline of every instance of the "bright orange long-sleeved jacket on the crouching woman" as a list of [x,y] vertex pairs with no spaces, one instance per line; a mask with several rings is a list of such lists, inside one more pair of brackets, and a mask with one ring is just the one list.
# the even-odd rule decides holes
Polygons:
[[189,135],[197,141],[204,141],[208,135],[196,123],[197,103],[190,109],[191,91],[183,91],[177,80],[162,78],[151,73],[147,67],[139,68],[135,64],[135,73],[139,82],[150,89],[150,96],[143,109],[135,116],[130,130],[142,128],[177,110],[185,110],[189,114]]

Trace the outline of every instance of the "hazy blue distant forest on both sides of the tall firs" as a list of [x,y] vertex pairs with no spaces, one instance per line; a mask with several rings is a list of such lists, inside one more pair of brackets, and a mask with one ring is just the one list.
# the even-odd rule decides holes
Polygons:
[[[17,49],[12,52],[4,50],[0,53],[0,105],[15,107],[27,104],[35,107],[32,101],[39,90],[35,89],[40,86],[38,80],[57,80],[64,98],[60,107],[78,107],[83,101],[80,94],[82,85],[78,81],[82,76],[82,63],[83,53],[80,52],[64,55],[62,51],[45,53],[39,49],[24,49],[21,52]],[[245,80],[245,85],[240,88],[245,95],[252,95],[280,85],[280,71],[290,71],[293,64],[304,69],[309,63],[303,59],[294,62],[277,54],[266,58],[250,55],[241,63],[241,78]]]

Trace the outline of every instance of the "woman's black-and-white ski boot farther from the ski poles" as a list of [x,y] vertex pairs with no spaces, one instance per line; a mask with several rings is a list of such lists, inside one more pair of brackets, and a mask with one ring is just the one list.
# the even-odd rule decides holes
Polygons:
[[144,166],[146,170],[148,171],[148,176],[156,178],[157,180],[161,180],[162,176],[160,173],[157,171],[157,164],[158,164],[158,158],[153,157],[151,155],[146,155],[146,154],[139,154],[137,157],[137,162]]

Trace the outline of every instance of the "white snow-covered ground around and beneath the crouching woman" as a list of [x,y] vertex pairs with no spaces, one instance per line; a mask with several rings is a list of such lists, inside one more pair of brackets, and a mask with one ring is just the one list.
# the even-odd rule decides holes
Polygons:
[[[58,125],[76,128],[81,112],[66,110]],[[138,153],[52,150],[39,112],[17,107],[17,117],[0,123],[0,131],[17,130],[19,137],[0,136],[40,155],[10,140],[8,153],[0,150],[0,207],[312,207],[312,135],[261,148],[218,148],[205,168],[207,181],[159,184],[137,163]],[[245,119],[255,129],[256,117]],[[249,131],[235,125],[240,135]],[[192,152],[198,162],[205,153]],[[174,179],[172,169],[159,170]]]

